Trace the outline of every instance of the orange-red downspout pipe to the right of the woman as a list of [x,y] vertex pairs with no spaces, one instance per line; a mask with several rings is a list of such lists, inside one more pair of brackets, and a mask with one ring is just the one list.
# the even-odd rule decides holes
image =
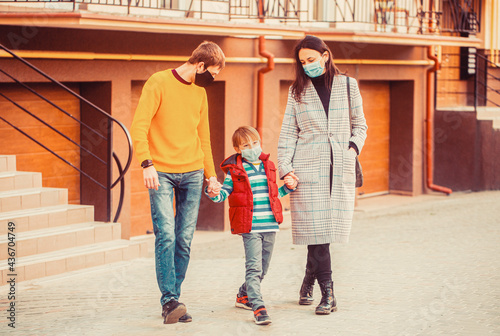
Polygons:
[[434,55],[434,46],[427,48],[427,57],[434,61],[432,68],[427,69],[427,153],[426,153],[426,166],[427,166],[427,188],[446,193],[452,193],[450,188],[438,186],[434,184],[434,105],[432,104],[432,74],[439,70],[439,59]]

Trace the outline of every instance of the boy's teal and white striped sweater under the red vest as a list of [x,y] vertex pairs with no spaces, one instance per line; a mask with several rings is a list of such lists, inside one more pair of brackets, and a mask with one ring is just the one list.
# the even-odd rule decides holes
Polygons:
[[[267,185],[267,177],[264,171],[264,164],[262,161],[249,163],[243,160],[243,168],[250,180],[250,187],[253,194],[253,218],[252,218],[252,232],[274,232],[279,231],[278,223],[274,218],[271,211],[269,201],[269,187]],[[216,203],[224,202],[231,192],[233,191],[233,180],[231,173],[228,171],[220,194],[210,199]],[[279,189],[279,197],[283,197],[293,190],[290,190],[286,185],[281,186]]]

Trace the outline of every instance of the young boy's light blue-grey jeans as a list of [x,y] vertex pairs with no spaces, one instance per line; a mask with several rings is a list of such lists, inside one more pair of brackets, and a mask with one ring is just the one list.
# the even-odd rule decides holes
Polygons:
[[248,295],[248,301],[253,310],[264,306],[260,283],[269,269],[273,254],[276,232],[243,233],[245,246],[245,282],[241,285],[239,294]]

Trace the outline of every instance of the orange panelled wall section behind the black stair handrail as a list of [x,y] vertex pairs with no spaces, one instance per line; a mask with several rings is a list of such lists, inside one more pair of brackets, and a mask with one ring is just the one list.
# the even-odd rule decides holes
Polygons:
[[[80,118],[80,102],[71,94],[47,83],[30,84],[30,86],[75,118]],[[69,86],[72,90],[79,91],[78,85]],[[19,85],[0,84],[0,91],[76,143],[80,142],[80,124],[63,112]],[[80,167],[80,151],[76,145],[3,97],[0,97],[0,113],[3,118],[20,127],[28,135],[43,139],[44,145],[76,167]],[[0,121],[0,144],[1,154],[17,156],[17,170],[41,172],[44,187],[67,188],[69,202],[80,203],[80,173],[77,170],[66,165],[3,121]]]

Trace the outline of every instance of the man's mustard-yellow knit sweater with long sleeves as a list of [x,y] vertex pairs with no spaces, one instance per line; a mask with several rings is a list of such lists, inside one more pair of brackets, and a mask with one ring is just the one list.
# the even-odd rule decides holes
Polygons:
[[182,83],[172,69],[144,85],[130,133],[139,162],[153,160],[164,173],[204,168],[207,178],[215,176],[205,89]]

